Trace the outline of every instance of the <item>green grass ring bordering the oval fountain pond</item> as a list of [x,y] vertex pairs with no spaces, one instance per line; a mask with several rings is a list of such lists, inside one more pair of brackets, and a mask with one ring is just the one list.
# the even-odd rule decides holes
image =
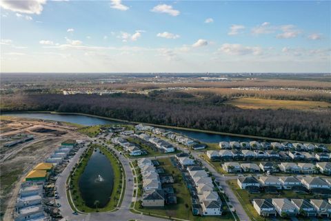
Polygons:
[[[112,188],[112,194],[110,195],[110,201],[108,202],[108,204],[105,207],[98,208],[98,209],[94,209],[94,208],[90,208],[90,207],[86,206],[86,204],[84,204],[84,202],[83,202],[83,198],[81,197],[81,193],[79,191],[79,179],[88,163],[88,160],[90,160],[90,156],[92,155],[94,148],[99,148],[100,151],[102,153],[104,153],[106,155],[106,157],[108,157],[108,160],[110,161],[110,164],[112,164],[112,169],[114,171],[114,185]],[[86,213],[93,213],[93,212],[98,212],[98,211],[99,212],[112,211],[113,209],[116,209],[119,200],[120,200],[120,202],[122,200],[121,199],[121,189],[125,188],[125,186],[123,186],[123,183],[122,183],[121,174],[122,174],[121,164],[117,160],[117,157],[114,157],[114,155],[112,155],[112,153],[110,153],[108,150],[106,150],[106,148],[104,148],[103,146],[100,146],[97,144],[92,145],[88,149],[87,153],[82,155],[81,162],[77,166],[76,171],[74,172],[74,175],[70,176],[71,177],[70,193],[72,195],[72,201],[73,201],[74,205],[77,207],[77,209],[79,211],[86,212]],[[68,194],[68,192],[67,192],[67,194]],[[70,200],[69,200],[69,202],[70,202]],[[70,206],[72,206],[72,202],[70,203]],[[73,206],[72,206],[72,209],[74,209]]]

